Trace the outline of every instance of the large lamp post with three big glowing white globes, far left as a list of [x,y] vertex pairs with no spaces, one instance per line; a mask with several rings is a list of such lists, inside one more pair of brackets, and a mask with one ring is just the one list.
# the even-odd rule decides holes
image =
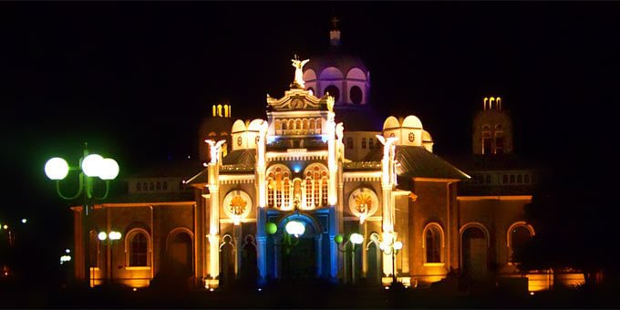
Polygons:
[[[60,198],[72,201],[82,196],[83,214],[82,214],[82,245],[84,251],[84,280],[85,284],[90,284],[90,262],[89,262],[89,235],[88,235],[88,208],[93,199],[106,199],[109,194],[109,181],[114,180],[119,175],[119,164],[116,160],[104,159],[98,154],[88,153],[88,144],[84,143],[83,156],[78,162],[78,166],[70,167],[67,160],[59,157],[47,160],[45,171],[47,178],[56,181],[56,191]],[[60,191],[60,181],[67,177],[69,171],[79,171],[78,175],[78,192],[74,196],[66,196]],[[95,197],[93,192],[93,183],[95,178],[105,181],[106,191],[101,197]]]

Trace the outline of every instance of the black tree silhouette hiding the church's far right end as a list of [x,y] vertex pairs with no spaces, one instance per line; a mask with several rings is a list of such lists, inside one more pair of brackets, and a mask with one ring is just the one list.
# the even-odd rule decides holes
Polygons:
[[556,155],[525,207],[536,235],[515,255],[521,269],[578,269],[585,284],[612,283],[614,262],[614,161],[601,152]]

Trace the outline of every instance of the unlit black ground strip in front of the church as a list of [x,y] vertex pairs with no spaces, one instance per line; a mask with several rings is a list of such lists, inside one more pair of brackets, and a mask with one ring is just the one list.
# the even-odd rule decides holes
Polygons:
[[[36,288],[38,287],[38,288]],[[377,286],[326,283],[271,284],[222,288],[213,292],[187,291],[169,285],[159,288],[108,286],[79,287],[0,286],[2,307],[63,308],[618,308],[618,298],[608,289],[554,290],[536,294],[480,288],[467,293],[445,287],[389,290]]]

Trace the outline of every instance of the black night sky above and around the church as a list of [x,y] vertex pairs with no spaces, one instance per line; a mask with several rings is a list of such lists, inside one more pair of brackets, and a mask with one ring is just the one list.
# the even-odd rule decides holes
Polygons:
[[0,3],[0,220],[70,236],[70,203],[43,166],[77,163],[85,141],[122,177],[195,157],[214,103],[264,117],[293,55],[327,49],[332,15],[371,72],[373,105],[417,115],[439,155],[470,152],[485,96],[511,110],[524,156],[583,163],[615,147],[618,2]]

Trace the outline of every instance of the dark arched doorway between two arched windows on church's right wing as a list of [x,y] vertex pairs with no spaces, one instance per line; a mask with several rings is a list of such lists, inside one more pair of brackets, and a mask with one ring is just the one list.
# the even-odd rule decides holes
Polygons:
[[478,226],[469,226],[462,232],[463,272],[471,281],[486,280],[489,275],[489,241]]

